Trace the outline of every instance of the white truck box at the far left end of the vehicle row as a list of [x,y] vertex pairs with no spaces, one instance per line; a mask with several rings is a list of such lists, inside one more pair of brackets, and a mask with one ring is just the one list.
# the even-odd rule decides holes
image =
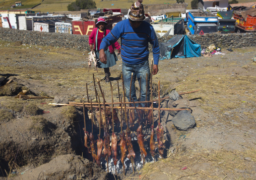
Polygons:
[[25,16],[21,14],[2,14],[3,28],[19,29],[19,16]]

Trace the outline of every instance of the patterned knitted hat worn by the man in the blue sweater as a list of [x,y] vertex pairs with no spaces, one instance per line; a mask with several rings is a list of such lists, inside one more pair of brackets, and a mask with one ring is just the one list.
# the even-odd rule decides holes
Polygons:
[[142,5],[143,0],[138,0],[135,2],[131,8],[128,10],[128,18],[132,21],[143,21],[145,20],[144,8]]

